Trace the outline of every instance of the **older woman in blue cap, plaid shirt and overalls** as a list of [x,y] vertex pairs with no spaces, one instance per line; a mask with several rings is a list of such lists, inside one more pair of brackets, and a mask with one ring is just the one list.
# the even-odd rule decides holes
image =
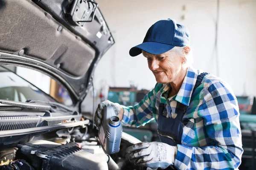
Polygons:
[[175,20],[152,25],[143,43],[130,50],[143,54],[157,84],[135,106],[104,101],[115,108],[123,125],[139,127],[151,120],[158,125],[161,142],[142,142],[127,148],[126,158],[151,168],[236,169],[243,153],[239,108],[226,82],[192,68],[188,29]]

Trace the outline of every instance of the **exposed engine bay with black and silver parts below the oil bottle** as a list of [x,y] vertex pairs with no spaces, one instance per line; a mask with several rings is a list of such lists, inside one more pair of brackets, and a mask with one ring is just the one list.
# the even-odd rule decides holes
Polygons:
[[[120,151],[106,155],[99,144],[98,129],[89,122],[28,136],[20,142],[1,144],[0,170],[139,170],[125,159],[133,136],[124,133]],[[138,140],[134,140],[138,142]]]

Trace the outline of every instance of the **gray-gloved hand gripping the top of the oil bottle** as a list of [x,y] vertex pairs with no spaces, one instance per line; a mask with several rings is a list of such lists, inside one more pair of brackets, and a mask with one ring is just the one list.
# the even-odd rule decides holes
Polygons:
[[116,115],[120,112],[121,110],[121,106],[118,103],[113,103],[109,100],[105,100],[101,103],[99,103],[98,108],[95,112],[95,116],[94,116],[94,122],[95,125],[97,127],[100,126],[100,124],[102,123],[102,118],[103,118],[103,108],[105,108],[106,106],[112,106],[114,108],[114,111],[116,113]]

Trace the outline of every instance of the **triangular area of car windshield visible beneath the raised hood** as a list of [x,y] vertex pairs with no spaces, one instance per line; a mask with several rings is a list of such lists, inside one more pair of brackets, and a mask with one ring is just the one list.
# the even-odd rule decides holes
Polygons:
[[0,79],[0,99],[17,102],[26,102],[27,99],[56,102],[52,97],[3,66],[0,66]]

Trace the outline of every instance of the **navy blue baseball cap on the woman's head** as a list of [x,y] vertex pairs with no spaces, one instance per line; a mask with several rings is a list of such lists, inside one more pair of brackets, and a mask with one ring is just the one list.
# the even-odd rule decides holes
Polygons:
[[131,48],[129,54],[135,57],[146,51],[150,54],[163,54],[175,46],[185,47],[189,45],[189,30],[175,20],[160,20],[154,23],[143,40],[143,43]]

